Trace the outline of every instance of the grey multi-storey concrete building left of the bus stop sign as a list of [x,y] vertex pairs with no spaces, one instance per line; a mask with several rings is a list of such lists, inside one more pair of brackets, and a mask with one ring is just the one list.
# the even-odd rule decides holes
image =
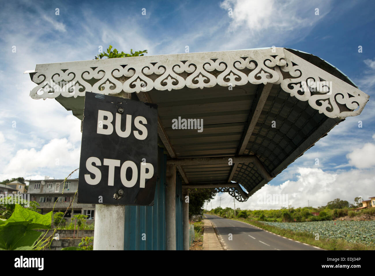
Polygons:
[[[44,179],[44,180],[28,180],[28,191],[30,200],[40,204],[42,214],[50,211],[63,212],[69,206],[69,202],[73,199],[78,189],[78,179],[69,179],[63,184],[64,179]],[[63,192],[64,191],[64,192]],[[72,217],[76,214],[83,214],[87,219],[95,219],[95,204],[77,203],[78,193],[75,195],[71,208],[65,217]],[[56,203],[55,203],[56,202]]]

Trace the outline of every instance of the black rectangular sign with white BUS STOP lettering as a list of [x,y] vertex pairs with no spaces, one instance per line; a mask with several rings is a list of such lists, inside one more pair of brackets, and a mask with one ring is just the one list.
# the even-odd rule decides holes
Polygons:
[[78,202],[153,205],[157,105],[86,92]]

